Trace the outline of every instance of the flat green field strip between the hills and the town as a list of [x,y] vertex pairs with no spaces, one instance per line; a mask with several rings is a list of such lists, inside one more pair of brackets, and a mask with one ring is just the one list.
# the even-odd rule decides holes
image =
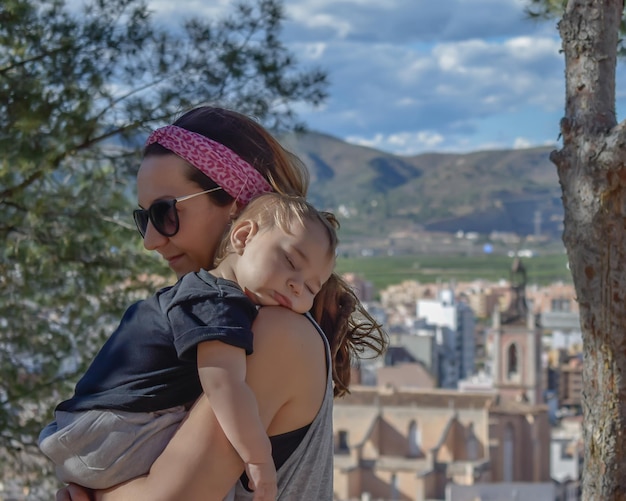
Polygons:
[[[340,257],[336,269],[339,273],[356,273],[372,282],[376,291],[380,291],[404,280],[422,283],[438,280],[508,280],[512,263],[512,258],[504,255]],[[523,258],[522,263],[526,268],[528,284],[572,281],[565,254]]]

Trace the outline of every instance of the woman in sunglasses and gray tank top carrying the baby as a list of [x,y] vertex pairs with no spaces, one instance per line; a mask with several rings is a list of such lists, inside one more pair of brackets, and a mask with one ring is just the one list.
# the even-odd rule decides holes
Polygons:
[[[255,121],[202,107],[174,125],[226,146],[274,191],[306,194],[304,166]],[[179,277],[211,267],[218,242],[255,185],[239,179],[229,190],[216,189],[225,187],[184,156],[150,144],[137,175],[139,205],[148,217],[138,221],[144,246],[157,251]],[[352,356],[365,348],[381,353],[386,345],[380,327],[336,275],[318,294],[312,313],[326,337],[309,317],[284,308],[262,308],[253,324],[247,381],[272,441],[278,499],[332,499],[332,397],[347,392]],[[222,500],[236,483],[235,499],[252,499],[245,478],[237,481],[243,470],[209,401],[200,397],[149,475],[97,492],[95,498]],[[57,499],[87,499],[85,494],[70,486]]]

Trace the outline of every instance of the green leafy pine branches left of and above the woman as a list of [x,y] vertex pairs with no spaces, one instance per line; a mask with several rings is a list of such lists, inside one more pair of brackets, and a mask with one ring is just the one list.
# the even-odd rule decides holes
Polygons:
[[51,404],[155,287],[142,274],[166,273],[130,217],[133,138],[203,103],[289,129],[293,103],[324,100],[324,72],[280,42],[283,19],[279,0],[180,29],[142,0],[0,5],[0,457],[36,451]]

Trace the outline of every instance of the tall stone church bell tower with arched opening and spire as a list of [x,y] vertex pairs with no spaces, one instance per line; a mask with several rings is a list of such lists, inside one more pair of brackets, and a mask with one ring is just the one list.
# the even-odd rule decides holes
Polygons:
[[526,269],[519,257],[511,267],[510,287],[510,304],[494,311],[490,329],[494,386],[503,400],[542,404],[542,331],[526,303]]

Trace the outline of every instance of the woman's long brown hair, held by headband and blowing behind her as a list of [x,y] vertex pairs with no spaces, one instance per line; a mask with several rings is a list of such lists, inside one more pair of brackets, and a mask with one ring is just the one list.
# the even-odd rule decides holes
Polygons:
[[[306,166],[260,125],[246,115],[213,106],[188,111],[173,125],[202,134],[228,147],[268,180],[281,194],[305,197],[309,186]],[[144,156],[171,155],[158,143],[148,145]],[[199,169],[189,165],[188,178],[202,189],[217,184]],[[207,194],[219,206],[233,202],[223,190]],[[331,348],[335,396],[349,393],[351,368],[355,359],[374,358],[387,348],[382,326],[361,304],[352,288],[336,273],[315,297],[313,318],[324,331]]]

